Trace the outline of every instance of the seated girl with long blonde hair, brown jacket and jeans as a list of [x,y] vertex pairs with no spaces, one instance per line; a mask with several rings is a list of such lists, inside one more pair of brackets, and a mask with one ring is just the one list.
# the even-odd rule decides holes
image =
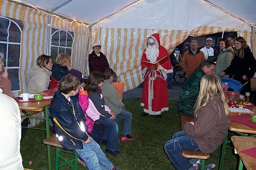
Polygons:
[[195,110],[195,120],[187,122],[184,130],[173,134],[165,143],[165,152],[176,169],[194,170],[182,150],[212,153],[222,144],[230,123],[230,111],[225,100],[220,79],[216,75],[204,75]]

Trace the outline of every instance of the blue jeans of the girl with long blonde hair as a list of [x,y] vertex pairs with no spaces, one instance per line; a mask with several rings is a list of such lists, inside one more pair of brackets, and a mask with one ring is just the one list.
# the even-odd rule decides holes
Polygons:
[[182,150],[200,151],[196,142],[185,131],[173,134],[171,140],[167,141],[164,149],[173,166],[178,170],[188,170],[193,166],[189,159],[181,155]]

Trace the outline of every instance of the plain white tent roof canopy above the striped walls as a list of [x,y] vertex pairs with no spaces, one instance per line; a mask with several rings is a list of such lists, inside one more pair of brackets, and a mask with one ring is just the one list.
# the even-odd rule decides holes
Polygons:
[[[54,10],[53,12],[60,16],[90,24],[132,4],[135,0],[22,0],[22,2],[49,12]],[[218,11],[217,8],[202,2],[202,0],[144,0],[133,6],[133,8],[124,10],[121,12],[122,14],[112,16],[111,18],[114,19],[110,19],[109,22],[113,23],[113,20],[120,20],[118,21],[119,23],[129,19],[129,22],[122,23],[124,25],[121,25],[126,28],[134,27],[134,23],[136,25],[138,24],[140,28],[148,28],[149,26],[152,27],[152,25],[156,27],[159,24],[166,26],[171,23],[176,29],[183,28],[183,30],[186,30],[190,26],[193,27],[191,24],[200,25],[199,22],[195,22],[195,18],[204,16],[202,20],[208,21],[208,18],[214,20],[221,15],[220,10]],[[209,0],[209,2],[243,18],[250,24],[256,25],[254,13],[254,7],[256,6],[255,0]],[[186,6],[185,4],[190,5]],[[195,7],[198,7],[196,9],[199,10],[195,11]],[[214,16],[212,16],[213,12],[215,14]],[[105,21],[105,24],[109,22]],[[180,22],[185,24],[180,24]],[[119,28],[121,27],[119,26]]]

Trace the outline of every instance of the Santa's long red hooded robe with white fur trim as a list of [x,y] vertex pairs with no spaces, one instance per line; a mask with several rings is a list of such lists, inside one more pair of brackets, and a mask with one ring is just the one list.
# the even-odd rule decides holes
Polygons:
[[[167,91],[167,74],[172,73],[171,61],[165,47],[160,45],[159,34],[150,36],[155,40],[155,44],[159,47],[159,56],[157,61],[167,56],[167,60],[155,67],[155,69],[147,69],[144,62],[141,62],[141,69],[144,78],[143,92],[141,97],[141,106],[144,112],[149,115],[160,115],[163,111],[168,111],[168,91]],[[143,51],[141,61],[149,61]]]

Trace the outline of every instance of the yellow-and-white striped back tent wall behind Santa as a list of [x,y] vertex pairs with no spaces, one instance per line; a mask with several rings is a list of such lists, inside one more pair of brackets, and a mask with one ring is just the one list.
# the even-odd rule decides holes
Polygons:
[[[107,56],[110,67],[119,80],[125,82],[125,91],[137,87],[142,81],[140,59],[147,37],[160,34],[161,45],[169,53],[188,36],[204,36],[222,32],[221,27],[200,26],[194,30],[153,30],[127,28],[92,28],[90,47],[95,42],[102,44],[101,51]],[[224,28],[225,32],[238,31],[250,46],[250,31]],[[87,68],[88,69],[88,68]]]

